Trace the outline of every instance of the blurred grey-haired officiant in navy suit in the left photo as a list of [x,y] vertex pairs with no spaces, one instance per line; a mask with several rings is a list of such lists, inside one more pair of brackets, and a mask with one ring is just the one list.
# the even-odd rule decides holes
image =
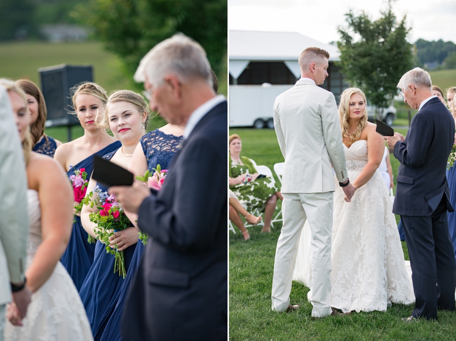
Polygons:
[[227,340],[227,101],[212,89],[203,48],[182,34],[152,48],[134,78],[152,111],[185,130],[158,193],[139,182],[109,189],[149,234],[122,338]]

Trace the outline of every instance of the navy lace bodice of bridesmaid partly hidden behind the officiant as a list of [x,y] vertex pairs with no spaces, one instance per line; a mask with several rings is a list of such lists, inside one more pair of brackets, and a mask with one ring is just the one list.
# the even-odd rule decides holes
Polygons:
[[165,134],[155,129],[144,135],[140,142],[146,156],[148,169],[153,172],[152,169],[156,168],[157,164],[160,165],[161,169],[169,168],[171,159],[180,148],[182,136]]

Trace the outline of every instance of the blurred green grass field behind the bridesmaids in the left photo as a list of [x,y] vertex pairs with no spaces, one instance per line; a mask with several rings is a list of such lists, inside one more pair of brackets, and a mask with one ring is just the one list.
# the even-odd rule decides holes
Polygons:
[[[21,41],[0,43],[0,78],[12,80],[29,79],[41,87],[38,68],[58,64],[92,65],[94,81],[106,89],[130,89],[138,91],[133,80],[129,80],[120,72],[121,61],[111,52],[103,48],[98,41],[50,43],[45,41]],[[227,59],[223,62],[223,70],[219,77],[219,92],[228,96]],[[136,89],[134,88],[136,86]],[[148,130],[156,129],[165,124],[160,118],[152,118]],[[66,127],[47,128],[46,134],[62,142],[67,142]],[[81,126],[71,128],[72,139],[84,133]]]

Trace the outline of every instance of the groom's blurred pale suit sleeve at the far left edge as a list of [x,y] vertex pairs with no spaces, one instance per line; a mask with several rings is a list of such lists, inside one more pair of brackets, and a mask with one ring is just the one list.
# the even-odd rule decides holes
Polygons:
[[24,280],[29,221],[27,178],[8,95],[0,87],[0,238],[10,281]]

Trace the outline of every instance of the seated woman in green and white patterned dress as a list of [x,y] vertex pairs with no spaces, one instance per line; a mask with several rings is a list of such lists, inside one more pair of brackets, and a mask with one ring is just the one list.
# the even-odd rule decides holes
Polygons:
[[265,225],[262,232],[271,231],[271,220],[277,198],[283,200],[274,179],[260,178],[249,158],[241,156],[242,142],[239,135],[229,137],[229,189],[238,197],[248,211],[258,208],[265,212]]

